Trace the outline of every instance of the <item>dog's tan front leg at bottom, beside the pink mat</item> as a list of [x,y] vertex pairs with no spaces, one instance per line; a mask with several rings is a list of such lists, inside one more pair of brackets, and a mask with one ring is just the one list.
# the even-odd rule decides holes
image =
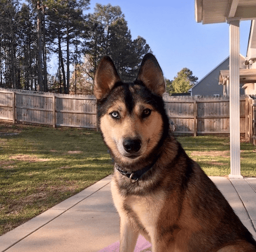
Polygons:
[[133,252],[138,239],[138,232],[134,230],[128,220],[120,219],[120,252]]

